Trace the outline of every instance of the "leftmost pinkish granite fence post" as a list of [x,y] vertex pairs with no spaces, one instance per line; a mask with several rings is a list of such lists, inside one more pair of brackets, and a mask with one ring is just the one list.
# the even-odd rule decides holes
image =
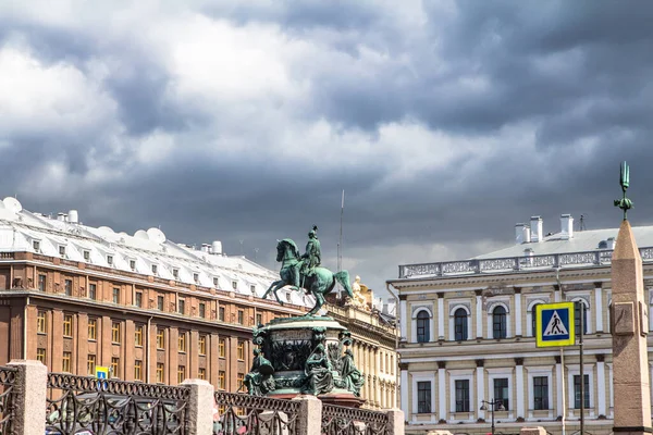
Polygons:
[[12,360],[8,366],[19,370],[14,407],[14,432],[16,435],[46,433],[46,394],[48,368],[40,361]]

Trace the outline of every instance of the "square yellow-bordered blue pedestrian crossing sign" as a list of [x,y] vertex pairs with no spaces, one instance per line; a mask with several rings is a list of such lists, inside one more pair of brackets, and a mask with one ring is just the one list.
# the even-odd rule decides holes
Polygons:
[[574,346],[574,302],[535,306],[535,344],[538,347]]

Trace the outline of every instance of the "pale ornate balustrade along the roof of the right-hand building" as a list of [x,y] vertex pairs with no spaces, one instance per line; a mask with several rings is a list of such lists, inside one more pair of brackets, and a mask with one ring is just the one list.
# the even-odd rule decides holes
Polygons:
[[[445,261],[399,265],[399,278],[479,275],[483,273],[538,271],[552,268],[608,265],[613,250],[551,253],[495,259]],[[653,261],[653,247],[640,248],[642,261]]]

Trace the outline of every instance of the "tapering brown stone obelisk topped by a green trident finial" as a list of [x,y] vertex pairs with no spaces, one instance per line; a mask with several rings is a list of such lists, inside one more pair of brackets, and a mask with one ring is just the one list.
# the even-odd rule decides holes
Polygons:
[[646,351],[649,319],[642,259],[627,220],[627,211],[632,207],[626,198],[628,178],[629,169],[624,162],[624,198],[615,201],[615,206],[624,210],[624,221],[612,258],[614,432],[640,435],[653,432]]

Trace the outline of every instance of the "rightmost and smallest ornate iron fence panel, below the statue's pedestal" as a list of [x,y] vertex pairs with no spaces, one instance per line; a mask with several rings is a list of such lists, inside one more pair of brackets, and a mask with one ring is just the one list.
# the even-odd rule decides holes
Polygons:
[[322,403],[322,434],[385,435],[390,434],[387,414],[356,408]]

